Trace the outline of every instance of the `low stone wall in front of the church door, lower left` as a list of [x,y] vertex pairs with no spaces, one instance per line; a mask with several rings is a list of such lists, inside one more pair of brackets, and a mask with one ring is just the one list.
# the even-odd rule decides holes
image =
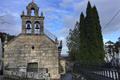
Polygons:
[[50,80],[49,73],[4,71],[4,78],[14,80]]

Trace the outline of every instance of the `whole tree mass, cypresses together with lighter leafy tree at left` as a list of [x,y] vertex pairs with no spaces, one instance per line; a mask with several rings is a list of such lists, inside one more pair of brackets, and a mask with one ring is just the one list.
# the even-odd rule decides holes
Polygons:
[[87,5],[86,16],[81,13],[77,24],[67,37],[71,58],[83,63],[104,62],[105,52],[99,15],[96,7],[92,7],[90,2]]

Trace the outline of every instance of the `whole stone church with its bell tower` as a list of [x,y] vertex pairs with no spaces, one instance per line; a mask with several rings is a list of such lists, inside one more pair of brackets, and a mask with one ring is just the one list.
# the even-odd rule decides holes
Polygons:
[[38,73],[46,69],[51,80],[59,80],[62,43],[45,33],[44,15],[39,15],[35,2],[26,9],[21,15],[22,32],[4,46],[4,68]]

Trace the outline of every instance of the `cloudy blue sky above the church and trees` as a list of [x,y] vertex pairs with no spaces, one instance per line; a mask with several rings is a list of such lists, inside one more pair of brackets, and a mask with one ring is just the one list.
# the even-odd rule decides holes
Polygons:
[[[0,0],[0,31],[10,34],[21,32],[22,11],[32,0]],[[45,28],[63,40],[63,54],[66,54],[66,36],[73,29],[80,13],[85,13],[88,0],[34,0],[45,16]],[[96,5],[102,25],[104,42],[116,41],[120,36],[120,14],[106,26],[110,19],[120,9],[120,0],[90,0]],[[3,21],[9,24],[3,24]]]

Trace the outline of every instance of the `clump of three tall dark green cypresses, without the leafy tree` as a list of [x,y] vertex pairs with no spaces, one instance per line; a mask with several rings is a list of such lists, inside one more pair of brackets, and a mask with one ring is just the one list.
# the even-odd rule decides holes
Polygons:
[[101,63],[104,60],[103,38],[96,7],[88,2],[86,17],[80,18],[80,61]]

